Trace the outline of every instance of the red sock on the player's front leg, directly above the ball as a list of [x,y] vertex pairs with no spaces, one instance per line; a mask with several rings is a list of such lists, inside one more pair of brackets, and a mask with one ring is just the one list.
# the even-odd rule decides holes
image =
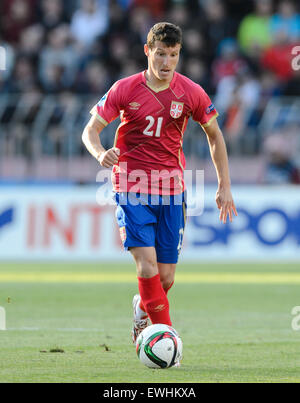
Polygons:
[[140,296],[152,324],[164,323],[172,326],[169,314],[169,301],[162,288],[160,276],[151,278],[138,277]]

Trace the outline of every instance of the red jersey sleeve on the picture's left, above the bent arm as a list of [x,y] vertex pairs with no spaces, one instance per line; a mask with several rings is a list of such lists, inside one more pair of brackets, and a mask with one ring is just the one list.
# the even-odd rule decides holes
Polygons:
[[116,82],[100,101],[93,106],[90,113],[91,115],[97,114],[101,123],[107,126],[119,117],[122,110],[121,103],[121,89],[119,82]]

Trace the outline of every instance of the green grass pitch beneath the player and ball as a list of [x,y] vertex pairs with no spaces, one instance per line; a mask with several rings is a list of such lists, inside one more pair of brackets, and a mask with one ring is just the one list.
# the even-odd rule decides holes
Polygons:
[[182,366],[151,370],[130,339],[133,264],[2,263],[0,382],[298,383],[299,287],[299,264],[179,264]]

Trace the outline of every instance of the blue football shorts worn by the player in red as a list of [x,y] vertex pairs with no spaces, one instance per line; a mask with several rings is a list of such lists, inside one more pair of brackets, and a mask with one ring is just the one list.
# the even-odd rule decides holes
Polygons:
[[159,263],[177,263],[186,221],[185,193],[175,196],[115,193],[114,198],[125,250],[153,246]]

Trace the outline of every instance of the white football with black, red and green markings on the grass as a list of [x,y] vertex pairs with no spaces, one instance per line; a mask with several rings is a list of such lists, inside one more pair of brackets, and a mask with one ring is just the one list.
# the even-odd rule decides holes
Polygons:
[[149,368],[170,368],[182,359],[182,340],[171,326],[151,325],[139,335],[136,352],[141,363]]

